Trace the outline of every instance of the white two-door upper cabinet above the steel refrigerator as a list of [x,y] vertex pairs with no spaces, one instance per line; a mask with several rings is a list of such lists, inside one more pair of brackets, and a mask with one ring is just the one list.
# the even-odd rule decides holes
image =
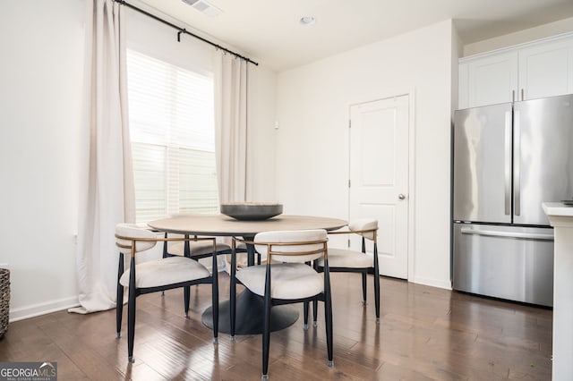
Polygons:
[[458,108],[573,93],[573,35],[459,60]]

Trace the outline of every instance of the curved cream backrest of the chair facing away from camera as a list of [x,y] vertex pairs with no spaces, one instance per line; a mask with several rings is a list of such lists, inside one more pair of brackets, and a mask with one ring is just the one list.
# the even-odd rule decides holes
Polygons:
[[308,262],[321,258],[328,240],[323,229],[264,232],[254,237],[255,249],[268,260],[278,262]]

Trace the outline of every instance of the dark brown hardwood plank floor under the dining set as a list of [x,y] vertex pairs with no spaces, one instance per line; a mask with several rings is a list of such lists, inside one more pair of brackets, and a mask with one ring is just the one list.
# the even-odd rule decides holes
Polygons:
[[[381,278],[381,322],[361,302],[360,275],[333,274],[334,368],[319,326],[271,334],[273,380],[550,380],[552,310],[492,301]],[[261,336],[219,335],[201,323],[210,286],[192,288],[184,318],[180,290],[138,298],[135,363],[126,328],[115,338],[115,310],[86,316],[56,312],[10,324],[0,361],[57,361],[60,380],[261,379]],[[221,298],[228,277],[221,273]],[[369,279],[372,301],[372,279]],[[125,312],[126,316],[126,312]],[[125,318],[124,318],[125,321]]]

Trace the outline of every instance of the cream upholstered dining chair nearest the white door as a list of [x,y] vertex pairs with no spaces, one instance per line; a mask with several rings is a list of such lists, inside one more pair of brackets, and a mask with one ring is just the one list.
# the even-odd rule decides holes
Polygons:
[[[362,273],[362,297],[366,304],[366,275],[373,275],[374,307],[376,322],[380,322],[380,269],[378,266],[378,220],[356,219],[351,221],[347,228],[329,232],[329,234],[357,234],[362,241],[362,250],[349,250],[329,248],[329,271],[331,273]],[[372,255],[366,253],[366,241],[372,242]],[[319,272],[324,271],[324,259],[316,261],[315,266]],[[312,304],[312,325],[316,326],[317,306]],[[308,326],[308,303],[304,303],[304,326]]]

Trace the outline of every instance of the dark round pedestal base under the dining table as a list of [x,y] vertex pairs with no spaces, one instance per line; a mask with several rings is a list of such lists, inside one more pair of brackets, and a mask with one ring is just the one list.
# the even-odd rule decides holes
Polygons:
[[[235,334],[262,334],[263,301],[261,297],[244,290],[236,295]],[[231,303],[218,304],[218,332],[231,333]],[[291,326],[298,319],[298,311],[293,306],[274,306],[270,309],[270,331],[278,331]],[[213,328],[213,309],[205,309],[201,320],[205,326]]]

